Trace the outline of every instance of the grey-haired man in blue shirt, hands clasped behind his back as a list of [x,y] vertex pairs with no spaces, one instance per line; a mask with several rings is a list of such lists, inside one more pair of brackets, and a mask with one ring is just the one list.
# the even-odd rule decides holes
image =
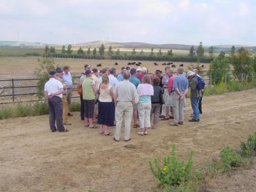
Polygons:
[[188,91],[188,80],[183,76],[183,69],[177,69],[177,76],[174,78],[173,85],[173,110],[174,110],[174,122],[169,125],[178,126],[184,122],[184,100]]

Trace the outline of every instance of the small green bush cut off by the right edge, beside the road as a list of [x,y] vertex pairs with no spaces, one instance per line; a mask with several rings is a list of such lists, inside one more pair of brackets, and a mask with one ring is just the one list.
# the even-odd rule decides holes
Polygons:
[[249,135],[247,142],[241,142],[241,154],[245,157],[254,156],[256,154],[256,132]]

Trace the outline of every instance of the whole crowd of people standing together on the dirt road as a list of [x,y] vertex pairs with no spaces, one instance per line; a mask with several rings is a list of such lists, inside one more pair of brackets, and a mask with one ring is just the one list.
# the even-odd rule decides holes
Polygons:
[[[84,66],[84,72],[77,82],[81,102],[80,117],[84,120],[84,126],[91,129],[97,128],[97,123],[102,135],[114,135],[114,140],[119,141],[123,118],[124,141],[131,140],[132,118],[133,127],[139,128],[138,134],[141,136],[147,135],[150,128],[156,129],[159,118],[173,119],[169,123],[171,126],[183,125],[186,93],[189,88],[193,114],[188,121],[200,121],[202,111],[199,106],[203,90],[197,86],[197,69],[185,74],[183,68],[178,68],[175,75],[169,67],[165,67],[164,72],[156,70],[150,75],[145,67],[122,67],[117,75],[115,68],[104,68],[101,71],[90,68],[88,64]],[[63,124],[70,124],[66,118],[66,114],[70,113],[65,107],[68,106],[65,104],[65,94],[67,95],[71,86],[67,80],[71,75],[68,67],[63,70],[64,72],[61,69],[50,72],[50,79],[45,84],[45,96],[49,102],[51,130],[56,131],[56,119],[57,130],[67,132]],[[116,127],[114,134],[109,130],[111,126]]]

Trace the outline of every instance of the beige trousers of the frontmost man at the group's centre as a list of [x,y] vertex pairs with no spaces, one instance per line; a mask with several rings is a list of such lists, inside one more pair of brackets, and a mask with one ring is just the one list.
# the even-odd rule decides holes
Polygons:
[[115,139],[120,140],[122,120],[124,116],[124,139],[130,139],[131,121],[133,116],[132,102],[118,102],[115,110],[116,132]]

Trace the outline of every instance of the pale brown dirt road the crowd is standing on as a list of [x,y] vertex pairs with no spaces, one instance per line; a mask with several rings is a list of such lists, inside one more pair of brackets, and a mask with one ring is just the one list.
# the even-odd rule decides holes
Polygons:
[[[132,128],[130,142],[122,137],[115,142],[113,136],[99,135],[99,129],[84,127],[78,112],[66,126],[68,133],[50,132],[48,115],[1,120],[0,191],[154,191],[158,180],[148,160],[162,160],[173,143],[180,160],[195,151],[197,168],[218,158],[224,144],[239,148],[256,131],[255,94],[253,89],[204,97],[199,123],[188,122],[187,99],[184,125],[161,121],[147,136]],[[217,180],[210,191],[255,191],[255,169],[238,169]]]

